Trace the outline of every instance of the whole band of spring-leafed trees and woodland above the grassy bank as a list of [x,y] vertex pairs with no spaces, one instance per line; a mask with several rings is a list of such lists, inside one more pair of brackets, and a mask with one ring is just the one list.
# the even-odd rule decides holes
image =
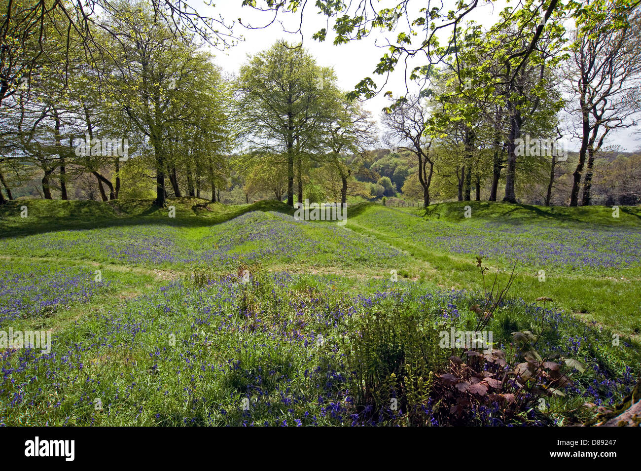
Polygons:
[[[98,18],[71,3],[0,0],[0,204],[162,206],[185,195],[226,204],[641,202],[641,150],[608,147],[613,130],[630,142],[637,132],[639,1],[525,1],[490,28],[467,21],[467,4],[412,22],[403,9],[358,17],[410,28],[374,77],[382,83],[404,54],[422,51],[425,67],[408,77],[424,84],[417,95],[380,90],[372,78],[340,90],[333,69],[287,42],[228,74],[204,46],[231,45],[231,26],[197,27],[172,4],[101,3]],[[287,4],[275,11],[299,3]],[[358,39],[349,12],[322,13],[342,18],[342,53],[340,43]],[[451,15],[467,22],[449,44],[428,35],[412,45],[412,28],[426,35],[421,25]],[[378,92],[389,103],[375,119],[361,99]],[[570,138],[578,151],[567,151]]]

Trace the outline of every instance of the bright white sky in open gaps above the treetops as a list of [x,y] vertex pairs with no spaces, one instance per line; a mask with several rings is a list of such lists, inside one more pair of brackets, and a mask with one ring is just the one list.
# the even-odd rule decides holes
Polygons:
[[[387,85],[385,83],[385,76],[378,76],[373,73],[374,67],[378,63],[379,58],[386,52],[381,44],[386,35],[393,41],[399,31],[392,32],[379,32],[374,31],[370,37],[359,41],[352,41],[348,44],[333,45],[333,35],[330,28],[328,28],[328,37],[324,42],[318,42],[312,39],[313,33],[320,28],[326,27],[326,17],[318,15],[314,6],[314,1],[308,1],[308,7],[304,15],[303,21],[303,46],[315,56],[319,65],[333,67],[338,79],[338,86],[344,90],[352,90],[354,86],[365,77],[371,77],[376,85],[383,88],[383,92],[391,90],[394,95],[404,95],[406,90],[406,83],[404,81],[403,67],[397,67],[394,74],[388,79]],[[410,3],[412,8],[418,9],[426,5],[426,2],[417,0]],[[453,0],[444,0],[446,8],[455,9]],[[480,4],[470,15],[470,19],[485,26],[490,26],[496,21],[498,13],[506,6],[504,0],[495,1],[493,3]],[[243,24],[251,24],[251,26],[263,26],[267,24],[270,19],[270,13],[257,12],[253,8],[242,7],[242,0],[219,0],[215,6],[204,6],[201,0],[192,0],[190,4],[194,6],[201,14],[212,17],[222,16],[226,20],[236,21],[234,27],[235,35],[242,35],[244,40],[234,45],[225,51],[212,49],[215,54],[217,62],[224,70],[228,72],[238,72],[240,65],[247,60],[247,55],[256,54],[264,49],[269,48],[276,40],[285,39],[289,42],[296,43],[301,40],[301,35],[294,35],[283,31],[295,31],[298,28],[300,16],[298,14],[281,15],[279,19],[283,24],[278,22],[263,29],[248,29],[238,24],[238,18],[242,18]],[[382,0],[380,2],[374,1],[374,4],[380,5],[381,8],[386,6],[393,6],[394,0]],[[448,5],[449,4],[449,5]],[[515,4],[514,1],[510,4]],[[378,8],[378,6],[377,6]],[[283,28],[284,25],[284,28]],[[445,41],[447,35],[451,30],[444,31],[440,36],[442,42]],[[400,65],[400,64],[399,64]],[[420,61],[410,63],[408,70],[411,70],[415,65],[420,65]],[[412,88],[410,91],[417,90],[417,87]],[[365,108],[369,110],[374,118],[378,120],[381,114],[381,108],[387,106],[388,100],[383,97],[383,93],[376,97],[369,99],[363,103]],[[638,136],[634,136],[632,131],[622,130],[616,133],[611,133],[612,138],[608,140],[607,144],[620,145],[622,151],[634,151],[640,147]],[[576,149],[576,145],[570,144],[570,150]]]

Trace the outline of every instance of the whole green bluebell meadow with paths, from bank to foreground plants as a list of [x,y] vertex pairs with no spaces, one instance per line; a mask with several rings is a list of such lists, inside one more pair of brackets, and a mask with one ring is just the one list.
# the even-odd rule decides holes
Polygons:
[[0,350],[0,425],[554,426],[637,384],[639,208],[204,203],[0,209],[0,331],[53,335]]

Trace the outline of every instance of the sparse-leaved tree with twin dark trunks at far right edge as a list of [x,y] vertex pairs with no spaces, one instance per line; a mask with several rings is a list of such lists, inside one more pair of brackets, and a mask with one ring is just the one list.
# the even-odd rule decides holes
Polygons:
[[578,206],[584,167],[582,202],[590,204],[594,160],[604,139],[612,129],[636,126],[635,114],[641,110],[640,15],[625,9],[622,15],[620,9],[626,3],[594,0],[588,4],[588,17],[610,28],[588,33],[579,24],[570,47],[565,81],[571,84],[569,113],[579,121],[581,139],[570,206]]

